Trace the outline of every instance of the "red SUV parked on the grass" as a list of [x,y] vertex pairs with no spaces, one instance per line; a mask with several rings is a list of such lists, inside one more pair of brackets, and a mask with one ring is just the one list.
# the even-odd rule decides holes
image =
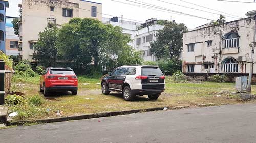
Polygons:
[[78,80],[71,68],[48,67],[40,78],[40,91],[44,96],[49,92],[71,91],[77,95]]

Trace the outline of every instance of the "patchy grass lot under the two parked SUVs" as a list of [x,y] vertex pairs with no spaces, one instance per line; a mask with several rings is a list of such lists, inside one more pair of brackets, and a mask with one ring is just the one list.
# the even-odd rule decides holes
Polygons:
[[[13,83],[12,90],[24,92],[26,97],[41,93],[39,92],[39,76],[18,80],[24,85]],[[102,95],[99,78],[89,78],[87,76],[78,76],[79,90],[77,96],[70,93],[52,93],[46,97],[40,106],[20,105],[15,109],[22,112],[13,118],[17,120],[41,119],[49,117],[58,117],[56,112],[61,111],[59,116],[79,115],[82,113],[95,113],[107,111],[120,111],[131,109],[144,109],[162,106],[197,106],[203,103],[217,104],[235,104],[245,102],[232,94],[234,92],[234,83],[170,83],[166,84],[166,90],[156,101],[148,100],[147,96],[138,97],[135,101],[125,101],[122,94],[111,93]],[[18,84],[19,84],[18,82]],[[35,84],[34,84],[35,83]],[[83,85],[84,83],[87,83]],[[89,83],[89,84],[88,84]],[[256,94],[256,86],[252,86],[252,93]],[[13,109],[12,107],[10,108]]]

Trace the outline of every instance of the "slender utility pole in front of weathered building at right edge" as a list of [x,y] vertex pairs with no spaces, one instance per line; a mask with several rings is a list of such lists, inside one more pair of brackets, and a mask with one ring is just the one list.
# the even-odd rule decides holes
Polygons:
[[247,85],[247,92],[251,93],[251,78],[253,73],[253,64],[254,64],[254,49],[255,49],[255,38],[256,38],[256,15],[254,16],[254,35],[253,35],[253,43],[252,43],[252,49],[251,49],[251,57],[250,57],[250,73],[249,73],[249,79],[248,79],[248,85]]

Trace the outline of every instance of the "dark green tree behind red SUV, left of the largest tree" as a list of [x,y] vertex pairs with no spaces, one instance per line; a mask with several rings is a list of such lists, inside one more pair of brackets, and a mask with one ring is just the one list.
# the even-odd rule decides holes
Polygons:
[[33,59],[45,67],[56,67],[58,58],[56,48],[57,33],[58,29],[56,27],[45,28],[44,31],[39,32],[39,39],[34,45]]

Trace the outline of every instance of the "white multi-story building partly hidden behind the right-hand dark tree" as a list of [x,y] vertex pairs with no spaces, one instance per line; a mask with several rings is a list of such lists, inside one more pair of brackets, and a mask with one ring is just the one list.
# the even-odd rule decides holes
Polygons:
[[150,42],[156,40],[158,30],[162,30],[164,25],[157,24],[157,19],[146,20],[145,23],[137,27],[134,33],[134,47],[141,51],[141,56],[145,61],[156,61],[156,57],[150,53]]

